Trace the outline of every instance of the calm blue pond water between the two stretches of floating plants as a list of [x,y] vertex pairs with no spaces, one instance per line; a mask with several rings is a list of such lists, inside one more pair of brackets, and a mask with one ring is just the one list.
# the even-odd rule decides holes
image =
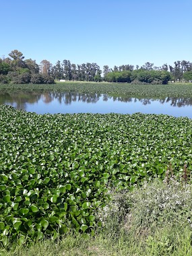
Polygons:
[[77,92],[11,92],[0,94],[0,104],[38,114],[148,113],[192,118],[192,98],[129,98]]

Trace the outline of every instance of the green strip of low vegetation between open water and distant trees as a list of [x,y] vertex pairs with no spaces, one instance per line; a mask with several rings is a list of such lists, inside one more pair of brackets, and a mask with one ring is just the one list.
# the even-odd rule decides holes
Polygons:
[[113,95],[126,95],[137,97],[192,97],[192,84],[168,85],[135,85],[94,82],[59,82],[57,84],[0,84],[0,92],[26,91],[26,92],[63,92],[73,91],[79,93],[102,93]]

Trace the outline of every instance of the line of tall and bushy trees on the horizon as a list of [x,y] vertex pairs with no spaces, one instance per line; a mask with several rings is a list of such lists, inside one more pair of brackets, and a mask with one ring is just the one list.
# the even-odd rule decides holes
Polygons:
[[174,65],[164,64],[154,67],[147,62],[139,67],[121,65],[111,69],[104,65],[101,70],[96,63],[71,64],[69,60],[57,61],[55,65],[42,60],[40,65],[32,59],[24,59],[18,50],[9,57],[0,58],[0,82],[14,84],[53,84],[54,80],[119,82],[131,84],[168,84],[168,81],[181,82],[192,80],[192,63],[175,61]]

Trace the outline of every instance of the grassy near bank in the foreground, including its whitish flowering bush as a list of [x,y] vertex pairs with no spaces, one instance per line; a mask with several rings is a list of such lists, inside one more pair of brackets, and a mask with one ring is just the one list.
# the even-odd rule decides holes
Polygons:
[[155,179],[133,191],[111,193],[113,201],[98,214],[103,226],[95,236],[71,232],[61,240],[7,245],[0,255],[192,255],[191,184]]

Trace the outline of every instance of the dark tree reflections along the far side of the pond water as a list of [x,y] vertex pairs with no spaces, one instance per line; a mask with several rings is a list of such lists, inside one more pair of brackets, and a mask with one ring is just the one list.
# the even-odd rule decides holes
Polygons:
[[192,106],[192,98],[137,98],[128,96],[114,96],[110,94],[86,93],[79,92],[10,92],[0,93],[0,104],[11,104],[17,109],[26,110],[27,104],[50,104],[53,101],[59,104],[70,105],[72,102],[96,103],[99,100],[107,102],[140,102],[143,105],[152,102],[160,102],[160,104],[169,104],[170,106]]

